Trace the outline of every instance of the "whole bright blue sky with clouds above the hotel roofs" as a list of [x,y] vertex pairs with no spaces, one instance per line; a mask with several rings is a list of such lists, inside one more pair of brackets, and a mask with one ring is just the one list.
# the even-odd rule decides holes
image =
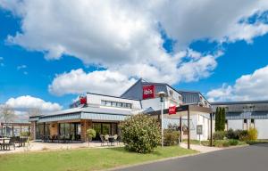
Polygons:
[[[193,18],[188,19],[174,9],[159,12],[157,7],[169,8],[162,4],[151,9],[147,4],[96,3],[93,13],[95,9],[103,11],[93,15],[77,11],[82,7],[75,1],[64,4],[66,9],[58,13],[52,5],[60,4],[44,3],[48,13],[41,10],[35,15],[37,2],[12,2],[0,1],[0,103],[13,98],[10,102],[15,105],[19,104],[17,98],[28,96],[67,108],[84,92],[120,94],[138,77],[200,91],[211,101],[268,99],[268,94],[259,89],[264,89],[268,79],[265,3],[248,2],[237,6],[239,12],[230,9],[230,4],[214,3],[209,7],[219,12],[215,14],[219,17],[211,17],[204,7],[201,14],[192,12]],[[191,12],[194,5],[183,10]],[[72,12],[68,12],[70,6]],[[121,7],[122,12],[105,13],[110,7]],[[154,17],[143,13],[144,8]],[[133,15],[133,9],[140,12]],[[111,23],[104,22],[108,15]],[[248,85],[253,82],[259,84]],[[119,85],[121,90],[113,91]]]

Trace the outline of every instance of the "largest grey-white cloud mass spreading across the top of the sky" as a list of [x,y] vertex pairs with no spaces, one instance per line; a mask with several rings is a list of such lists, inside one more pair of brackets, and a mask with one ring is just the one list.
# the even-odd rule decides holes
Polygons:
[[[268,31],[267,24],[261,21],[240,22],[268,9],[268,3],[261,0],[0,0],[0,6],[21,18],[21,31],[9,35],[8,43],[44,52],[48,60],[68,54],[85,64],[104,67],[105,71],[80,73],[91,82],[98,80],[96,75],[106,78],[109,72],[123,77],[127,85],[132,82],[130,77],[170,84],[197,81],[211,75],[222,53],[198,53],[188,49],[190,43],[200,39],[219,44],[238,40],[252,43],[254,37]],[[172,54],[163,49],[159,25],[176,42]],[[68,87],[59,83],[63,76],[71,77],[73,73],[56,76],[50,92],[103,90],[94,83],[81,90],[71,87],[74,83]],[[114,81],[108,81],[112,88],[118,83]],[[66,88],[66,93],[59,93],[59,85]]]

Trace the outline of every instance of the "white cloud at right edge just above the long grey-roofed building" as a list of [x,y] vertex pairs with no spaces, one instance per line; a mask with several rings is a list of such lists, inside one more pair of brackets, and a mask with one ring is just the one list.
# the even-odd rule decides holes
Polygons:
[[212,102],[267,100],[267,85],[268,66],[239,77],[234,85],[223,84],[222,87],[211,90],[207,97]]

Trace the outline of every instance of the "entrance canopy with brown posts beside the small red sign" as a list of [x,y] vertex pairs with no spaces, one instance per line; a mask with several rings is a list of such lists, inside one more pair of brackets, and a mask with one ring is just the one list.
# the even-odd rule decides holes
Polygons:
[[[207,107],[201,107],[194,104],[187,104],[187,105],[181,105],[179,107],[176,107],[176,113],[175,114],[169,114],[169,109],[163,109],[163,118],[180,118],[180,141],[181,141],[181,117],[186,117],[188,120],[188,149],[190,149],[190,121],[189,118],[191,115],[197,115],[197,114],[209,114],[210,115],[210,146],[212,146],[212,133],[213,133],[213,126],[212,126],[212,118],[213,118],[213,110],[211,108]],[[161,110],[155,110],[150,111],[147,114],[151,116],[157,116],[160,120],[161,118]]]

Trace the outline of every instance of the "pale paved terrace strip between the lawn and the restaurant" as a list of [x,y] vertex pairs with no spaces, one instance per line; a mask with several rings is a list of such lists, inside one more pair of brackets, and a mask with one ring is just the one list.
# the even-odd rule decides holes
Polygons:
[[79,149],[79,148],[111,148],[119,147],[123,144],[114,143],[114,146],[107,145],[102,146],[100,142],[76,142],[76,143],[56,143],[56,142],[30,142],[27,147],[16,147],[16,150],[13,150],[11,146],[11,151],[0,151],[1,154],[6,153],[16,153],[16,152],[27,152],[27,151],[58,151],[58,150],[70,150],[70,149]]

